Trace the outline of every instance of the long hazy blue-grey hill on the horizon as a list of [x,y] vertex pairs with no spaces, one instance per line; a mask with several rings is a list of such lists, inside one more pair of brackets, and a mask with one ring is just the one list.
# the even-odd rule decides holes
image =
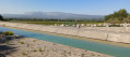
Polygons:
[[83,15],[62,12],[26,12],[24,14],[2,14],[3,17],[11,18],[104,18],[101,15]]

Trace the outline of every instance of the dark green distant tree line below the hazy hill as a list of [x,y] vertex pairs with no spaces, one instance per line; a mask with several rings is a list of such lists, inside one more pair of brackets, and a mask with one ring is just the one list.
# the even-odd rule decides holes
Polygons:
[[60,18],[4,18],[8,22],[11,20],[22,20],[22,22],[102,22],[102,18],[68,18],[68,19],[60,19]]

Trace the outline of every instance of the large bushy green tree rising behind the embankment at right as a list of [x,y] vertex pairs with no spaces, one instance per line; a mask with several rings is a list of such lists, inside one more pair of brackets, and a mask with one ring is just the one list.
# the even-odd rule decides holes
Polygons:
[[125,9],[115,12],[114,14],[105,16],[104,20],[113,24],[123,23],[123,19],[128,17],[128,13]]

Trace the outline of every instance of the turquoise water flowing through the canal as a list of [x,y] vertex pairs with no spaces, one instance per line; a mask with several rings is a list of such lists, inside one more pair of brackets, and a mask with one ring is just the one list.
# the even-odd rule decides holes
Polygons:
[[63,45],[69,45],[78,48],[83,48],[87,51],[116,56],[116,57],[130,57],[129,47],[97,43],[93,41],[83,41],[83,40],[71,39],[71,38],[59,37],[59,35],[44,34],[44,33],[19,30],[19,29],[10,29],[3,27],[0,27],[0,31],[13,31],[15,34],[19,35],[59,43]]

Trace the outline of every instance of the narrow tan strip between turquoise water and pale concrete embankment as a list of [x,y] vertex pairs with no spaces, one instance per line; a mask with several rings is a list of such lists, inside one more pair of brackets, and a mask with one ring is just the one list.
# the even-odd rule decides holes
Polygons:
[[[0,26],[0,27],[3,27],[3,26]],[[83,40],[83,41],[92,41],[92,42],[97,42],[97,43],[104,43],[104,44],[130,47],[130,44],[126,44],[126,43],[121,43],[121,42],[119,43],[119,42],[114,42],[114,41],[104,41],[104,40],[98,40],[98,39],[84,38],[84,37],[78,37],[78,35],[68,35],[68,34],[55,33],[55,32],[46,32],[46,31],[43,32],[43,31],[39,31],[39,30],[31,30],[31,29],[24,29],[24,28],[14,28],[14,27],[4,27],[4,28],[20,29],[20,30],[37,32],[37,33],[43,33],[43,34],[59,35],[59,37],[78,39],[78,40]]]

